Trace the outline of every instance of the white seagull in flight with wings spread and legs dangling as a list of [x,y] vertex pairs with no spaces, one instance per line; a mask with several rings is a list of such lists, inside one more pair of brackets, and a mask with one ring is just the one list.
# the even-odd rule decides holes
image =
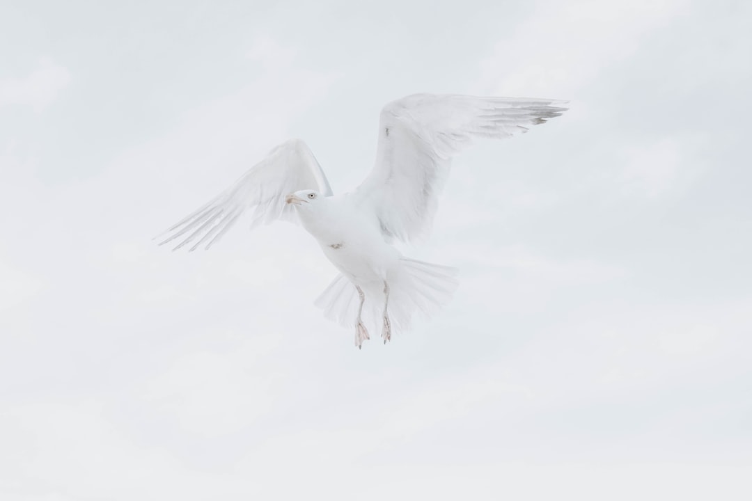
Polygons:
[[298,222],[339,271],[316,305],[354,327],[360,349],[366,324],[386,344],[416,311],[430,316],[458,284],[452,267],[407,258],[394,247],[427,237],[453,155],[479,137],[504,139],[560,116],[566,101],[414,94],[381,110],[376,161],[352,192],[334,195],[311,149],[299,139],[276,146],[232,186],[168,228],[159,245],[209,249],[243,216],[251,228]]

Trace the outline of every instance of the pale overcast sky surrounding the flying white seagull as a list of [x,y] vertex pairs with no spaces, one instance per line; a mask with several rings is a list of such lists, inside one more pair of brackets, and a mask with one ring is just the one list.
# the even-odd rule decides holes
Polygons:
[[[357,3],[0,0],[0,498],[750,499],[750,3]],[[456,158],[387,346],[294,225],[151,240],[413,92],[571,109]]]

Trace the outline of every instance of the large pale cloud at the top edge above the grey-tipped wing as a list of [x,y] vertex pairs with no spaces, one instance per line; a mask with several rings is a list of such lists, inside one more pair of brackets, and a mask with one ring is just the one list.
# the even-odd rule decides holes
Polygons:
[[481,89],[494,95],[571,96],[644,35],[675,17],[683,0],[539,2],[514,35],[481,62]]

